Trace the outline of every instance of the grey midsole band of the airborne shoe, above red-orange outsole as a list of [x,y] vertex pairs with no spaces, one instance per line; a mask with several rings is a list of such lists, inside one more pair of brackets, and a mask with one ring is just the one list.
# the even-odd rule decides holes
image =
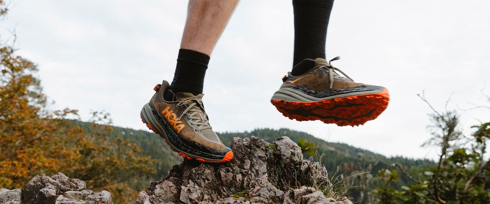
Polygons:
[[[382,87],[380,87],[382,88]],[[312,95],[307,94],[307,91],[304,90],[298,90],[298,89],[293,89],[290,87],[286,88],[281,88],[279,91],[276,91],[274,95],[272,96],[271,100],[280,100],[280,101],[291,101],[291,102],[316,102],[316,101],[321,101],[321,100],[328,100],[328,99],[335,99],[335,98],[342,98],[342,97],[347,97],[347,96],[353,96],[353,95],[364,95],[364,94],[371,94],[371,93],[378,93],[383,91],[383,89],[380,89],[378,87],[373,88],[374,90],[368,90],[368,91],[356,91],[355,89],[352,90],[351,92],[344,92],[340,94],[335,94],[335,95],[327,95],[327,94],[317,94],[318,95],[327,95],[325,97],[315,97]],[[306,89],[306,88],[303,88]],[[306,89],[308,90],[308,89]],[[363,89],[366,90],[366,89]],[[319,93],[318,91],[312,91],[315,93]],[[327,92],[327,91],[323,91]]]

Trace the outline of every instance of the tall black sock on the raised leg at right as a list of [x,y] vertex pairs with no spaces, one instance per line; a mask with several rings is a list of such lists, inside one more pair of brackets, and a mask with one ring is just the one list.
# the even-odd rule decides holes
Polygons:
[[296,66],[306,58],[325,58],[328,20],[334,0],[293,0],[294,10],[294,76],[311,68]]

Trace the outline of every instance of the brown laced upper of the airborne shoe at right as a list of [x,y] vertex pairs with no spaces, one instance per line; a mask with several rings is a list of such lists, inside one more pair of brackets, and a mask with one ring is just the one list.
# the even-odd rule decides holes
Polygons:
[[[330,62],[338,59],[340,59],[340,57],[336,57],[330,60]],[[306,59],[301,63],[303,63],[301,66],[311,65],[312,69],[299,76],[292,76],[291,72],[288,72],[288,75],[283,78],[284,83],[281,88],[301,87],[311,91],[335,91],[359,86],[372,86],[354,82],[354,80],[344,74],[340,69],[333,67],[329,62],[322,58],[317,58],[315,60]],[[339,75],[336,71],[341,72],[345,77]]]

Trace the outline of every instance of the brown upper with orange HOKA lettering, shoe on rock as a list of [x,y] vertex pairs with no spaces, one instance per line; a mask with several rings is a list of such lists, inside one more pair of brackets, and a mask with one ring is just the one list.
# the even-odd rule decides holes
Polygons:
[[163,81],[150,102],[150,107],[164,118],[172,131],[191,147],[214,155],[225,155],[231,151],[213,131],[209,118],[204,111],[204,94],[176,93],[175,101],[165,101],[164,92],[169,83]]

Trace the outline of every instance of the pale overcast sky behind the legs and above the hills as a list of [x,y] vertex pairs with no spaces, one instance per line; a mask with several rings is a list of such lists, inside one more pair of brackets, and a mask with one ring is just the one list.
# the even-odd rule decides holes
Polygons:
[[[185,23],[184,0],[14,0],[0,22],[1,39],[17,33],[18,54],[38,64],[55,108],[111,113],[114,125],[146,129],[139,113],[153,86],[172,80]],[[435,158],[421,148],[430,138],[425,90],[443,110],[490,105],[490,1],[337,0],[327,34],[327,59],[356,82],[384,86],[390,104],[360,127],[282,116],[270,97],[290,71],[290,0],[242,0],[211,61],[204,103],[217,132],[290,128],[387,156]],[[485,82],[487,84],[485,85]],[[490,111],[461,111],[471,133]]]

